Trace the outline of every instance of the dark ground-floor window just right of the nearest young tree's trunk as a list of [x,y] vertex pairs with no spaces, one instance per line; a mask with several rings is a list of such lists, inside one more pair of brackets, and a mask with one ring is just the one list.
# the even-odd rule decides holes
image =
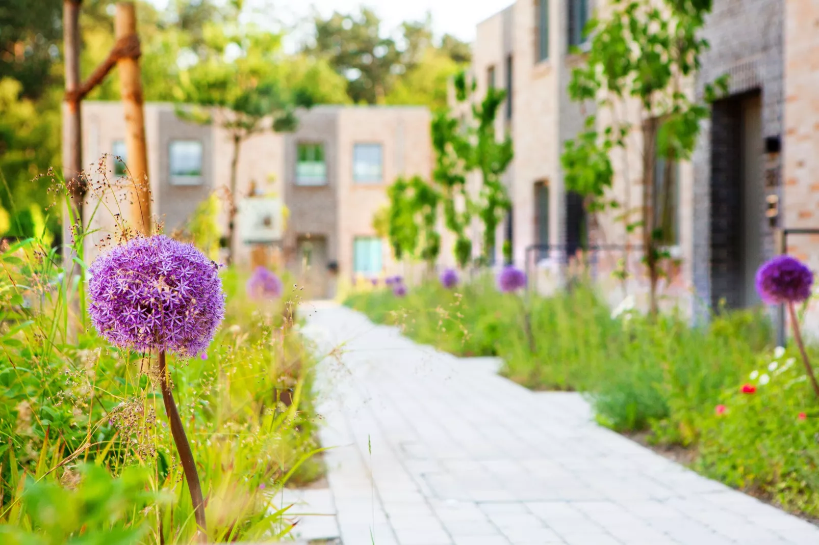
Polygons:
[[[659,136],[659,131],[658,131]],[[659,138],[658,138],[659,140]],[[659,149],[654,163],[654,229],[662,245],[680,244],[680,164]],[[666,155],[666,156],[663,156]]]

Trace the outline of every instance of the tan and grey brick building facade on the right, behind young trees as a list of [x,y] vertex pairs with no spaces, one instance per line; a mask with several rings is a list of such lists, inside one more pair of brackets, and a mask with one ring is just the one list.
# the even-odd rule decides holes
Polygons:
[[[612,302],[636,295],[641,305],[648,280],[640,233],[626,231],[621,212],[597,214],[591,224],[577,196],[564,191],[560,166],[564,143],[594,113],[568,97],[571,70],[584,61],[586,47],[577,29],[592,11],[605,9],[602,0],[518,0],[477,26],[472,74],[478,95],[493,79],[509,92],[515,263],[548,289],[563,282],[568,256],[587,241],[598,247],[592,268],[608,284],[604,293]],[[713,104],[691,160],[672,169],[672,259],[659,286],[668,305],[699,316],[697,310],[758,304],[755,272],[781,250],[783,232],[819,227],[819,183],[810,179],[819,151],[817,17],[817,0],[714,0],[703,31],[710,48],[687,92],[702,99],[705,85],[723,74],[729,91]],[[599,123],[612,115],[596,114]],[[641,127],[628,103],[621,115]],[[627,149],[612,156],[612,196],[635,207],[642,142],[640,135],[629,138]],[[791,233],[787,240],[804,259],[819,259],[811,251],[819,233]],[[630,280],[613,280],[623,263]],[[544,275],[554,282],[543,283]]]

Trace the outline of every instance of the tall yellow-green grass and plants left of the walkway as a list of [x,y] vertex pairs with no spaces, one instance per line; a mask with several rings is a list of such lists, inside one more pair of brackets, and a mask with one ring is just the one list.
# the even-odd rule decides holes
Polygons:
[[[196,525],[156,355],[97,336],[85,312],[84,237],[66,249],[78,256],[72,275],[46,235],[0,250],[0,541],[190,543]],[[170,358],[174,394],[209,540],[276,538],[290,524],[275,491],[322,471],[312,458],[313,360],[283,318],[294,291],[260,304],[244,295],[242,272],[224,271],[223,282],[226,318],[206,358]]]

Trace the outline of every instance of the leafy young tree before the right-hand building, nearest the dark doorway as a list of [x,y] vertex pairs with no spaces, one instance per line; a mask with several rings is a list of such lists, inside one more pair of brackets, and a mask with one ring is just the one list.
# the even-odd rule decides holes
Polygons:
[[[630,203],[622,213],[628,233],[640,229],[649,276],[649,312],[657,313],[657,286],[674,226],[672,169],[688,160],[708,106],[692,98],[693,78],[708,43],[700,37],[710,0],[612,0],[604,19],[586,28],[590,49],[585,65],[572,70],[569,94],[608,114],[586,119],[586,129],[566,144],[561,158],[568,190],[586,197],[590,211],[622,205],[611,198],[615,150],[626,155],[639,142],[640,207],[632,219]],[[726,79],[705,86],[713,101]],[[628,117],[631,106],[637,115]],[[662,169],[658,168],[662,166]],[[625,177],[624,177],[625,178]],[[626,184],[629,181],[626,179]]]

